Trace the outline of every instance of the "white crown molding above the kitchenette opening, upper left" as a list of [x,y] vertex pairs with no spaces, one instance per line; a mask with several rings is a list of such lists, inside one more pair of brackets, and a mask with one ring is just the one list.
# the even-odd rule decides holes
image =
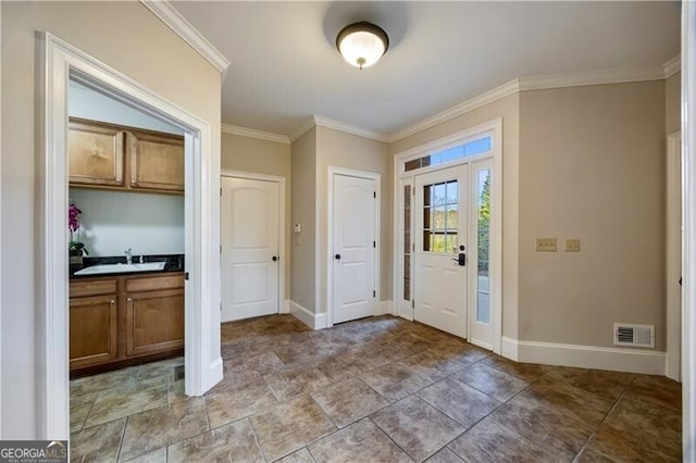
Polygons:
[[229,61],[208,41],[182,14],[166,0],[140,0],[140,3],[159,17],[170,29],[191,46],[220,73],[229,66]]

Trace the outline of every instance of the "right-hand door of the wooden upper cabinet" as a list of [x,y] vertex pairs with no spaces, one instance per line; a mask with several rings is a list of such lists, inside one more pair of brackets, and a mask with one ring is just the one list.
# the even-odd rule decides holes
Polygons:
[[184,191],[184,137],[128,136],[130,187]]

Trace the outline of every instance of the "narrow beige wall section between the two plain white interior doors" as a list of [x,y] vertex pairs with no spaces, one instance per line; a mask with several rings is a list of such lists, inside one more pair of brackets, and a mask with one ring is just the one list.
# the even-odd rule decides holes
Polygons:
[[291,235],[290,300],[316,312],[316,129],[295,140],[291,151],[291,224],[302,232]]

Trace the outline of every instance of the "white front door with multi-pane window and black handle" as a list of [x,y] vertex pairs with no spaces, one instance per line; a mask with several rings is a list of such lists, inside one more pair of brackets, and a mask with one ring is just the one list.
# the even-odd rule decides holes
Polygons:
[[[415,293],[418,322],[467,337],[468,165],[415,177]],[[461,258],[460,258],[461,255]]]

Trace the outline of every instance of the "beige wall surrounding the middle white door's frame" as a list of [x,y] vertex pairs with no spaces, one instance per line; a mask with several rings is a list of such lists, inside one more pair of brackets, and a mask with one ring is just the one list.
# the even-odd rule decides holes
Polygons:
[[332,128],[316,127],[316,227],[319,234],[319,310],[326,312],[328,274],[328,167],[348,167],[381,175],[380,191],[380,298],[391,299],[391,157],[387,143],[346,134]]

